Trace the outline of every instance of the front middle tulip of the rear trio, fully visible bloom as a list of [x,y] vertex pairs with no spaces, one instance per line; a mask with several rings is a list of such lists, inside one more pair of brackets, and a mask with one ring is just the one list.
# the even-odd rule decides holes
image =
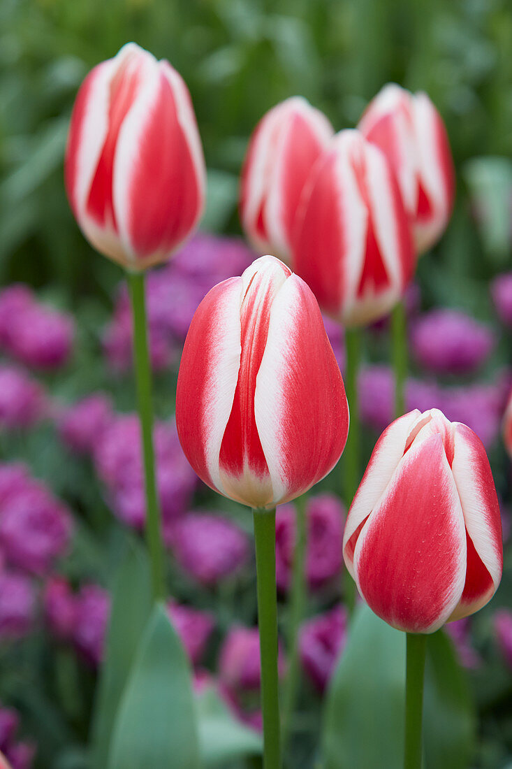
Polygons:
[[391,310],[416,259],[397,181],[359,131],[341,131],[311,171],[294,228],[294,269],[327,315],[366,325]]

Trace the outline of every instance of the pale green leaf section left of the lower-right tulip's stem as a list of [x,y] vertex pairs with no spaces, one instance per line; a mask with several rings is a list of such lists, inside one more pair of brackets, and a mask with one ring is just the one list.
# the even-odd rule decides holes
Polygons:
[[325,769],[401,766],[404,686],[405,634],[362,605],[327,691]]

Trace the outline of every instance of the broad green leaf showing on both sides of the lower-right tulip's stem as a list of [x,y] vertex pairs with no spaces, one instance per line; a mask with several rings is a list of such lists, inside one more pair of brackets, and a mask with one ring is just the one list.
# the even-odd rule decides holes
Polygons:
[[[404,750],[405,634],[366,605],[354,614],[327,691],[325,769],[401,767]],[[444,631],[427,639],[424,769],[464,769],[474,711],[464,671]]]

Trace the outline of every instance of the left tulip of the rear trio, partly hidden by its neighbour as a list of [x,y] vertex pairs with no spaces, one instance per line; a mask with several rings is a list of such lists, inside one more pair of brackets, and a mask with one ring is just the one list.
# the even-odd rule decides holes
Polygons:
[[261,254],[291,258],[291,232],[301,192],[334,130],[301,96],[286,99],[258,123],[241,175],[244,231]]

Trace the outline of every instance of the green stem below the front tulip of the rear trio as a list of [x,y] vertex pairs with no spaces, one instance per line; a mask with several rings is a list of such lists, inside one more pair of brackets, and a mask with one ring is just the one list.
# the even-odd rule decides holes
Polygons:
[[[357,375],[361,361],[361,329],[347,328],[345,330],[345,354],[347,365],[344,384],[351,415],[347,444],[344,450],[344,497],[348,510],[361,481],[361,423],[357,401]],[[349,615],[354,611],[355,595],[355,582],[345,568],[344,598]]]

